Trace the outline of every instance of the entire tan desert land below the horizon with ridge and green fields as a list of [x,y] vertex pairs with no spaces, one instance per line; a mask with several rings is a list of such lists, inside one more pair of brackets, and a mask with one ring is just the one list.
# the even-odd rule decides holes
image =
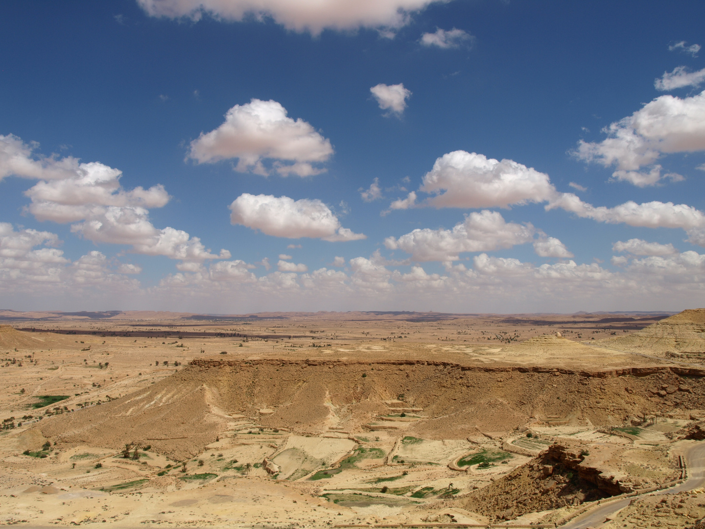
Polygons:
[[6,525],[703,527],[705,309],[0,324]]

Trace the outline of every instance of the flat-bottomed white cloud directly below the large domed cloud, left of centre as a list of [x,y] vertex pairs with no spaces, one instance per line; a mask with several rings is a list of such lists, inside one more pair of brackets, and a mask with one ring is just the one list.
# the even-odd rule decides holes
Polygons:
[[317,199],[293,200],[243,193],[233,200],[230,209],[232,224],[242,224],[275,237],[310,237],[331,242],[367,238],[343,228],[331,209]]

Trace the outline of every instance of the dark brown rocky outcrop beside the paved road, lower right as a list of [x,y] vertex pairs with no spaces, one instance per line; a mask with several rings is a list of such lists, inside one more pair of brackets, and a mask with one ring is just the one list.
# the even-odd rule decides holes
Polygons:
[[587,454],[553,444],[533,461],[465,497],[469,511],[511,520],[631,492],[615,475],[585,464]]

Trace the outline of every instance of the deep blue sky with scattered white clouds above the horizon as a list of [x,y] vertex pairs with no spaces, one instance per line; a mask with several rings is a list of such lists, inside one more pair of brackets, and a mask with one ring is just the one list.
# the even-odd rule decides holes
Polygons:
[[3,3],[0,308],[701,305],[701,2],[254,4]]

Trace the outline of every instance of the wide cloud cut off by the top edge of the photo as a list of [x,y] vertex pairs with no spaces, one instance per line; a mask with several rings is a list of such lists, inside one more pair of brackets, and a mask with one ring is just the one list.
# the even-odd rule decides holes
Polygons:
[[[446,0],[137,0],[151,16],[188,17],[207,14],[216,20],[273,19],[289,30],[318,35],[324,29],[398,29],[410,13]],[[388,32],[388,31],[387,31]]]

